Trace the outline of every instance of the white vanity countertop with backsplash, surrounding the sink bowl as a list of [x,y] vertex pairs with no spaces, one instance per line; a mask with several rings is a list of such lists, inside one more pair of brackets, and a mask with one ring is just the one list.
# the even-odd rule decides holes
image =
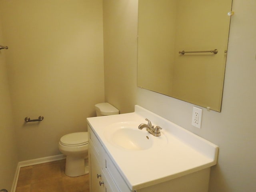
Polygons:
[[[146,123],[145,118],[163,128],[160,137],[167,138],[164,147],[128,150],[106,138],[108,125],[116,122],[138,122],[139,125]],[[217,162],[218,146],[137,105],[133,113],[92,117],[87,118],[87,122],[131,190],[172,180]]]

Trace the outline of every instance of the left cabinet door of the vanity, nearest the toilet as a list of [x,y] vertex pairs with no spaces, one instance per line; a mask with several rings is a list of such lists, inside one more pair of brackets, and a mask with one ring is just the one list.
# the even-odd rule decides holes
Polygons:
[[89,149],[90,158],[90,192],[105,192],[104,184],[102,183],[102,173],[101,167],[98,159],[96,158],[94,152]]

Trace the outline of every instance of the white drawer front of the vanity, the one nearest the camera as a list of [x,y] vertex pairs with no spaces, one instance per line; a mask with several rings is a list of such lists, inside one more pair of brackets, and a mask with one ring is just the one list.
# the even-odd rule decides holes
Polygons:
[[118,189],[121,192],[131,192],[130,188],[127,186],[126,182],[122,178],[116,166],[114,165],[112,160],[109,158],[108,154],[106,153],[105,153],[105,166],[103,170],[106,175],[109,175],[115,181],[116,186],[118,186]]

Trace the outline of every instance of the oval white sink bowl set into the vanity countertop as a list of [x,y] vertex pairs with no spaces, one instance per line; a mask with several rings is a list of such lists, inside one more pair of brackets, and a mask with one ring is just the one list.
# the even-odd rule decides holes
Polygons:
[[148,150],[157,147],[158,149],[167,143],[166,136],[159,137],[144,130],[139,130],[138,122],[120,122],[106,127],[104,135],[108,142],[127,150]]

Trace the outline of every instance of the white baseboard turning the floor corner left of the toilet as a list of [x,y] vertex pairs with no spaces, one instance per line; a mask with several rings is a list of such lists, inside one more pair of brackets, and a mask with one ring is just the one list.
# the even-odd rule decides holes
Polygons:
[[38,158],[38,159],[32,159],[32,160],[18,162],[18,165],[17,165],[17,168],[16,168],[16,173],[15,173],[15,176],[14,176],[14,181],[12,183],[11,192],[15,192],[16,191],[16,187],[17,187],[17,183],[18,183],[18,178],[19,178],[19,174],[20,174],[20,168],[31,166],[31,165],[47,163],[47,162],[58,161],[58,160],[62,160],[62,159],[66,159],[66,155],[60,154],[60,155],[54,155],[54,156],[49,156],[49,157],[43,157],[43,158]]

